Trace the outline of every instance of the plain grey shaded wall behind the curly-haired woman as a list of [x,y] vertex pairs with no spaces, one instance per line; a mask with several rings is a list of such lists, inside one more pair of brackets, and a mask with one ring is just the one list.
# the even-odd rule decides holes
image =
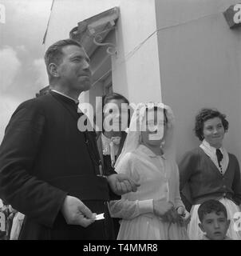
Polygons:
[[241,30],[223,11],[239,0],[156,0],[163,101],[176,114],[177,156],[199,145],[192,129],[202,107],[227,114],[224,146],[241,160]]

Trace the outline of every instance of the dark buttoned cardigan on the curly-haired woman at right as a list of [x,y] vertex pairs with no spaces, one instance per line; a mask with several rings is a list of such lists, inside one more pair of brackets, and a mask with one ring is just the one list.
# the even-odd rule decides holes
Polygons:
[[241,203],[239,162],[234,154],[228,155],[229,163],[223,175],[200,147],[184,155],[179,165],[180,190],[188,185],[192,204],[223,197]]

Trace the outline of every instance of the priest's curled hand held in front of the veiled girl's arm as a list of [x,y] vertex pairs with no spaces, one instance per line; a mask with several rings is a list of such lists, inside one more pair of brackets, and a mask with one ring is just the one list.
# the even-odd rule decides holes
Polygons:
[[140,186],[140,184],[134,182],[126,174],[111,174],[107,177],[107,180],[113,192],[119,195],[136,192],[137,186]]

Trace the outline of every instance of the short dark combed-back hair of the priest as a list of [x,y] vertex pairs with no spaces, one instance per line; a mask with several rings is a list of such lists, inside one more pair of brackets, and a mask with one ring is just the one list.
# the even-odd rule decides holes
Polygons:
[[62,49],[65,46],[79,46],[83,48],[83,46],[81,46],[79,42],[74,41],[73,39],[60,40],[53,43],[53,45],[49,46],[49,48],[45,52],[45,65],[47,68],[47,73],[49,75],[49,78],[51,78],[51,74],[49,74],[48,66],[50,63],[55,63],[56,65],[59,65],[62,62],[62,56],[63,56]]

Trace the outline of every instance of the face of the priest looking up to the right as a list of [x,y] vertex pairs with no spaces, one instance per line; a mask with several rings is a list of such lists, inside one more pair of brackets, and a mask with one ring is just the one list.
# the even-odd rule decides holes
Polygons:
[[91,86],[89,57],[79,46],[69,45],[62,49],[62,62],[58,65],[58,75],[66,90],[80,94]]

